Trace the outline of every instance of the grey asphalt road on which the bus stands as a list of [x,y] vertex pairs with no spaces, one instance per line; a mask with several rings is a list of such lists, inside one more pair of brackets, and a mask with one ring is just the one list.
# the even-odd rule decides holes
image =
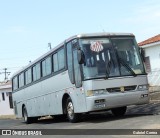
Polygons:
[[[27,125],[23,123],[22,120],[1,119],[0,129],[85,129],[84,134],[88,134],[88,131],[91,131],[92,129],[160,129],[160,103],[131,106],[128,108],[126,115],[123,117],[114,117],[110,112],[92,113],[90,115],[83,116],[82,122],[79,123],[69,123],[68,121],[44,119],[39,120],[37,123]],[[48,137],[50,138],[64,136],[54,135]],[[89,135],[85,137],[89,137]],[[96,136],[92,135],[92,137]],[[101,135],[98,137],[104,136]],[[112,137],[119,136],[115,135]]]

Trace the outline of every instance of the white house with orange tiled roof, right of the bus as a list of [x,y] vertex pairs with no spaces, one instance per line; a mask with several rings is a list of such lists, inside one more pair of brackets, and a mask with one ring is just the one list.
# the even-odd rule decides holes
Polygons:
[[150,86],[160,86],[160,34],[138,44],[145,51],[145,65]]

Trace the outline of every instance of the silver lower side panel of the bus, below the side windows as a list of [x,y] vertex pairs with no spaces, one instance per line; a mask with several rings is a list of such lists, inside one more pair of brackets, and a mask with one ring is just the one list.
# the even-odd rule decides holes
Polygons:
[[23,104],[29,117],[62,114],[62,98],[65,93],[70,95],[75,112],[86,112],[84,91],[71,84],[68,71],[65,71],[15,92],[17,116],[22,117]]

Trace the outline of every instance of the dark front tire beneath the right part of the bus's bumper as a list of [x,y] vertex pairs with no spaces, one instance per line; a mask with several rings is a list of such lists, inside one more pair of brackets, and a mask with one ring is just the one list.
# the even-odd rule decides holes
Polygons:
[[113,108],[111,109],[112,114],[116,117],[121,117],[126,113],[127,110],[127,106],[123,106],[123,107],[118,107],[118,108]]

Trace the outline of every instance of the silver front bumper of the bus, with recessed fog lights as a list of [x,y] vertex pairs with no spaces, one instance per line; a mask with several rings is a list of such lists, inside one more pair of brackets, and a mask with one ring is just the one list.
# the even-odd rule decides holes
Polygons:
[[86,98],[87,112],[107,110],[116,107],[138,105],[149,103],[149,92],[132,91],[132,92],[115,92],[100,96],[91,96]]

